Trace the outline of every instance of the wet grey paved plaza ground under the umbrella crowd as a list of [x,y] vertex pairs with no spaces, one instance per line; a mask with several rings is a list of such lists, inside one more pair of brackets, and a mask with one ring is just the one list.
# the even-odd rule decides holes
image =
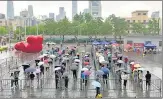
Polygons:
[[[85,50],[84,46],[80,46],[78,50]],[[91,46],[86,47],[87,52],[91,52]],[[10,57],[13,55],[12,53],[2,53],[4,56]],[[132,57],[132,59],[137,60],[142,64],[144,68],[147,68],[147,70],[151,71],[150,68],[161,68],[161,60],[158,61],[158,56],[146,56],[144,58],[140,58],[140,56],[136,56],[133,53],[124,53],[125,55]],[[22,68],[23,63],[30,63],[31,66],[34,66],[34,59],[37,58],[39,54],[25,54],[20,56],[21,59],[18,60],[18,66],[20,70],[19,75],[19,87],[11,89],[10,87],[10,74],[9,74],[9,68],[1,68],[3,71],[2,73],[2,79],[6,79],[1,83],[1,86],[3,90],[0,91],[0,98],[94,98],[96,94],[95,88],[91,85],[91,82],[95,79],[95,67],[94,67],[94,58],[91,57],[91,75],[89,77],[88,85],[87,87],[83,87],[81,90],[81,72],[78,72],[78,79],[73,79],[73,74],[71,70],[68,71],[69,76],[69,86],[68,89],[65,89],[63,86],[63,83],[60,82],[61,88],[56,89],[55,88],[55,77],[54,77],[54,70],[53,67],[50,67],[50,71],[45,73],[45,79],[42,79],[41,81],[37,81],[37,79],[34,81],[34,87],[26,87],[24,80],[24,72]],[[136,57],[135,57],[136,56]],[[19,57],[19,58],[20,58]],[[24,57],[24,58],[23,58]],[[156,59],[157,58],[157,59]],[[80,59],[81,60],[81,59]],[[97,60],[95,60],[97,61]],[[12,63],[12,62],[11,62]],[[55,63],[55,65],[58,65],[58,61]],[[71,61],[68,64],[68,66],[71,65]],[[52,69],[52,71],[51,71]],[[79,64],[78,71],[81,71],[82,69],[82,63]],[[160,75],[160,73],[154,73],[154,75]],[[152,76],[156,79],[156,76]],[[160,78],[160,76],[158,77]],[[162,78],[162,77],[161,77]],[[156,88],[155,85],[151,85],[150,89],[146,89],[145,87],[145,81],[143,82],[143,86],[138,86],[133,81],[128,81],[126,89],[121,87],[120,84],[118,84],[115,80],[114,73],[111,72],[109,74],[109,80],[108,84],[102,84],[101,92],[103,94],[103,98],[120,98],[120,97],[160,97],[161,93],[160,90]]]

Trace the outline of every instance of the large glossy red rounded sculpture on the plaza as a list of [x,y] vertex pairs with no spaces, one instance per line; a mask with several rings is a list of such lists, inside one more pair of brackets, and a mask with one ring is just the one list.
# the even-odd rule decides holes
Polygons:
[[42,36],[28,36],[27,42],[18,42],[15,44],[15,49],[26,53],[36,53],[42,50]]

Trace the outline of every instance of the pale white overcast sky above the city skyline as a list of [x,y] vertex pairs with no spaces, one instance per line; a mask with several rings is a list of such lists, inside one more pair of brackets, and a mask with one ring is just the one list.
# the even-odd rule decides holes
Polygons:
[[[6,14],[7,1],[0,1],[0,13]],[[48,15],[49,12],[58,14],[59,7],[65,7],[66,16],[71,19],[72,1],[14,1],[15,15],[33,5],[34,15]],[[88,1],[78,1],[78,13],[88,8]],[[134,10],[149,10],[149,16],[153,11],[160,11],[162,16],[162,1],[102,1],[102,17],[110,14],[130,17]]]

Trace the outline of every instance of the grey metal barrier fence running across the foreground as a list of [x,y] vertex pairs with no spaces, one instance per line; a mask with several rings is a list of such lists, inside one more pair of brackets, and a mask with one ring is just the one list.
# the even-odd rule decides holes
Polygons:
[[[95,88],[91,84],[93,81],[94,81],[94,79],[88,79],[87,82],[85,82],[85,80],[83,81],[83,79],[77,79],[77,80],[69,79],[69,85],[66,90],[68,90],[68,92],[83,93],[84,97],[93,97],[96,93]],[[105,82],[106,82],[106,80],[105,80]],[[103,94],[115,92],[114,94],[120,95],[119,91],[121,90],[121,92],[126,91],[128,94],[130,94],[131,97],[136,96],[136,94],[139,95],[141,93],[145,94],[148,92],[151,93],[150,97],[161,97],[162,91],[156,89],[154,86],[158,82],[160,83],[160,81],[155,80],[154,82],[156,82],[156,83],[152,82],[151,86],[148,89],[148,88],[146,88],[145,80],[143,80],[142,84],[139,84],[139,83],[134,82],[133,80],[129,79],[127,82],[126,88],[124,88],[123,81],[120,83],[116,79],[107,79],[107,83],[104,83],[103,79],[100,79],[100,83],[102,85],[100,90],[101,90],[101,93],[103,93]],[[10,79],[1,80],[0,84],[1,84],[1,91],[9,91],[12,89]],[[24,91],[27,91],[32,88],[33,90],[39,90],[39,92],[57,91],[55,84],[56,84],[56,81],[54,78],[34,79],[34,81],[31,81],[29,79],[20,79],[20,80],[18,80],[17,90],[19,92],[24,92]],[[64,90],[65,89],[64,85],[65,85],[64,79],[60,79],[59,83],[58,83],[58,86],[59,86],[58,90]],[[158,87],[161,88],[161,86],[158,86]],[[92,96],[88,95],[89,93]],[[74,96],[74,97],[77,97],[77,96]],[[105,95],[105,97],[107,97],[107,96]],[[118,96],[118,97],[124,97],[124,96]],[[147,97],[147,96],[142,96],[142,97]]]

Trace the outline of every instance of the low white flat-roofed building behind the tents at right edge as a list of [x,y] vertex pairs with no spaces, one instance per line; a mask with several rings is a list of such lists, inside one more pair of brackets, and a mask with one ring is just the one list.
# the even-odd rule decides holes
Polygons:
[[126,36],[124,37],[124,45],[130,44],[133,48],[142,48],[147,43],[155,44],[158,49],[162,49],[162,37],[156,36]]

